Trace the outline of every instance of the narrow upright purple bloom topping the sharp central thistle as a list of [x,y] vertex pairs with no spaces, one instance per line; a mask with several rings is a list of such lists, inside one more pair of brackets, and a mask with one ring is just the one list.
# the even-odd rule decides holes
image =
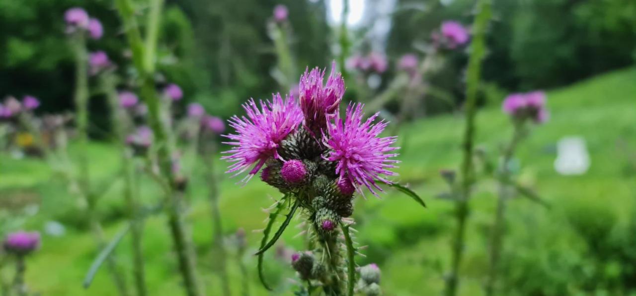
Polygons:
[[345,93],[345,81],[342,74],[334,73],[335,63],[331,65],[331,74],[324,81],[324,70],[308,68],[300,76],[300,107],[305,115],[305,127],[309,131],[319,133],[326,128],[327,121],[333,119],[340,108],[340,101]]

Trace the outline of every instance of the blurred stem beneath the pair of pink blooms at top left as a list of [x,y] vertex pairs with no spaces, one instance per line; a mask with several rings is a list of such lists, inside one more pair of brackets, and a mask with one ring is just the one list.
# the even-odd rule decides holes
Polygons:
[[[71,40],[75,53],[75,109],[76,109],[76,125],[78,133],[78,167],[79,176],[77,183],[79,192],[86,201],[86,215],[88,216],[88,224],[90,225],[95,241],[99,248],[105,245],[104,233],[102,225],[97,217],[95,206],[97,203],[96,196],[90,189],[90,176],[88,175],[88,156],[86,149],[88,148],[88,55],[86,53],[86,41],[81,32],[75,34]],[[107,259],[108,270],[113,276],[113,281],[120,295],[128,295],[126,283],[121,274],[117,271],[114,256]]]

